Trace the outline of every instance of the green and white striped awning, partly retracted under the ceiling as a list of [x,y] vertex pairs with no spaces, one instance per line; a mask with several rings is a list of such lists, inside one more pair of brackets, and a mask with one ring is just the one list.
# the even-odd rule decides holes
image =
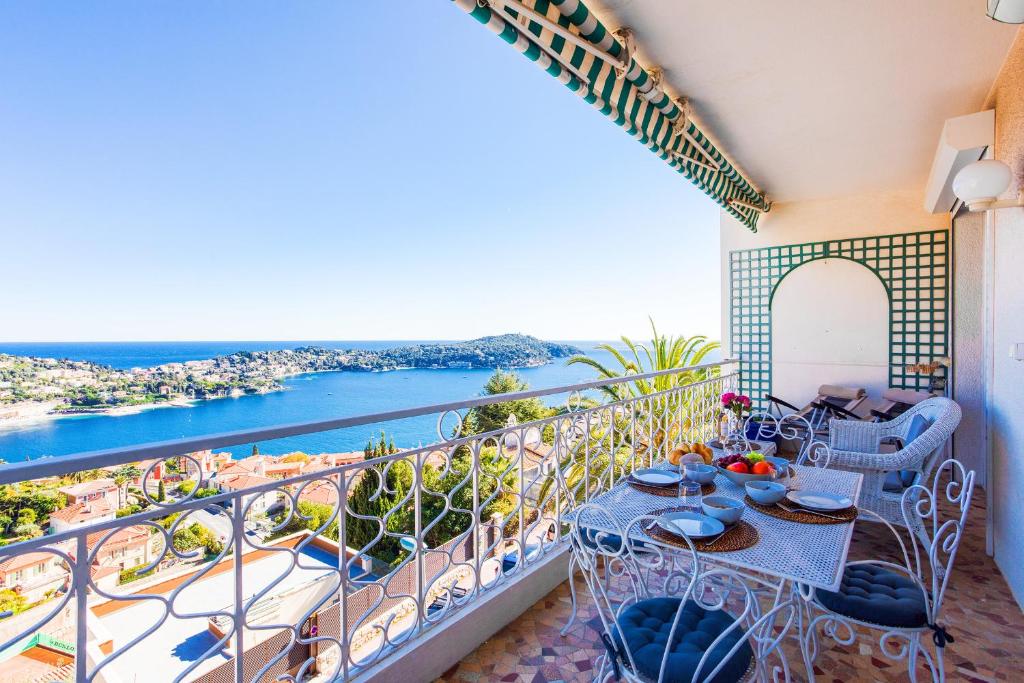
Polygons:
[[628,31],[608,31],[580,0],[454,2],[757,231],[771,204],[633,58]]

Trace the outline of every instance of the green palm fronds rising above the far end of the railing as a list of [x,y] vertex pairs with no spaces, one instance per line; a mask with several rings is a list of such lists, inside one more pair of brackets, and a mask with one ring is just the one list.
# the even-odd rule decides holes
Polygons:
[[[721,348],[717,341],[709,341],[703,335],[693,337],[672,337],[659,335],[654,326],[653,318],[650,319],[651,339],[649,346],[636,343],[629,337],[623,336],[623,344],[626,345],[629,357],[611,344],[598,344],[597,348],[610,353],[618,365],[618,369],[610,369],[599,360],[595,360],[586,355],[574,355],[568,359],[566,365],[590,366],[598,372],[600,377],[615,379],[628,377],[630,375],[645,375],[663,370],[685,369],[692,366],[699,366],[709,353]],[[644,362],[646,360],[646,364]],[[636,380],[625,384],[613,384],[601,387],[601,390],[608,394],[612,400],[623,400],[665,391],[673,387],[684,384],[699,382],[714,376],[716,369],[684,370],[679,373],[671,373],[655,377],[651,380]]]

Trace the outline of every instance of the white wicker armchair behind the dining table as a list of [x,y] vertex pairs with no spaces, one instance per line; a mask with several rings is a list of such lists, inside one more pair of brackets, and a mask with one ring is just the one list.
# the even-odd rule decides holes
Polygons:
[[[912,440],[909,435],[914,418],[928,421],[927,428]],[[961,420],[961,409],[949,398],[929,398],[889,422],[833,420],[829,431],[830,467],[861,472],[864,483],[860,507],[876,512],[892,524],[903,524],[900,507],[902,490],[886,490],[890,472],[909,472],[907,485],[926,485],[932,469],[942,456],[946,441]],[[920,425],[920,421],[916,421]],[[902,445],[892,453],[882,453],[883,439],[897,438]],[[909,442],[907,442],[909,440]]]

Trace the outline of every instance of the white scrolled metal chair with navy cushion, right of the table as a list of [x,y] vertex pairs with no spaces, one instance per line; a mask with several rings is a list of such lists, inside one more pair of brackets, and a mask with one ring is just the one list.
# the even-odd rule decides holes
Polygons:
[[[949,476],[940,485],[946,471]],[[943,653],[946,643],[953,639],[939,624],[939,616],[967,523],[974,476],[974,471],[947,460],[939,467],[931,488],[914,484],[903,493],[904,523],[907,528],[921,529],[908,533],[912,556],[907,552],[903,535],[873,515],[895,535],[903,564],[883,560],[849,562],[839,591],[812,590],[805,595],[812,618],[802,647],[809,661],[813,663],[819,651],[818,627],[823,627],[825,635],[837,642],[850,645],[856,639],[855,627],[861,626],[881,632],[879,646],[886,657],[906,659],[911,681],[916,681],[919,656],[924,658],[933,681],[945,680]],[[939,510],[940,493],[953,506],[954,516],[945,520]],[[929,633],[935,646],[934,656],[923,642]]]

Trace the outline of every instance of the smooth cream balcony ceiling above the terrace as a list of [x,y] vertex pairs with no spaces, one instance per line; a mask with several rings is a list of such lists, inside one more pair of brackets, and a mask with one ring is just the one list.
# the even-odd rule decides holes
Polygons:
[[983,0],[601,0],[774,201],[924,189],[945,119],[982,108],[1017,27]]

